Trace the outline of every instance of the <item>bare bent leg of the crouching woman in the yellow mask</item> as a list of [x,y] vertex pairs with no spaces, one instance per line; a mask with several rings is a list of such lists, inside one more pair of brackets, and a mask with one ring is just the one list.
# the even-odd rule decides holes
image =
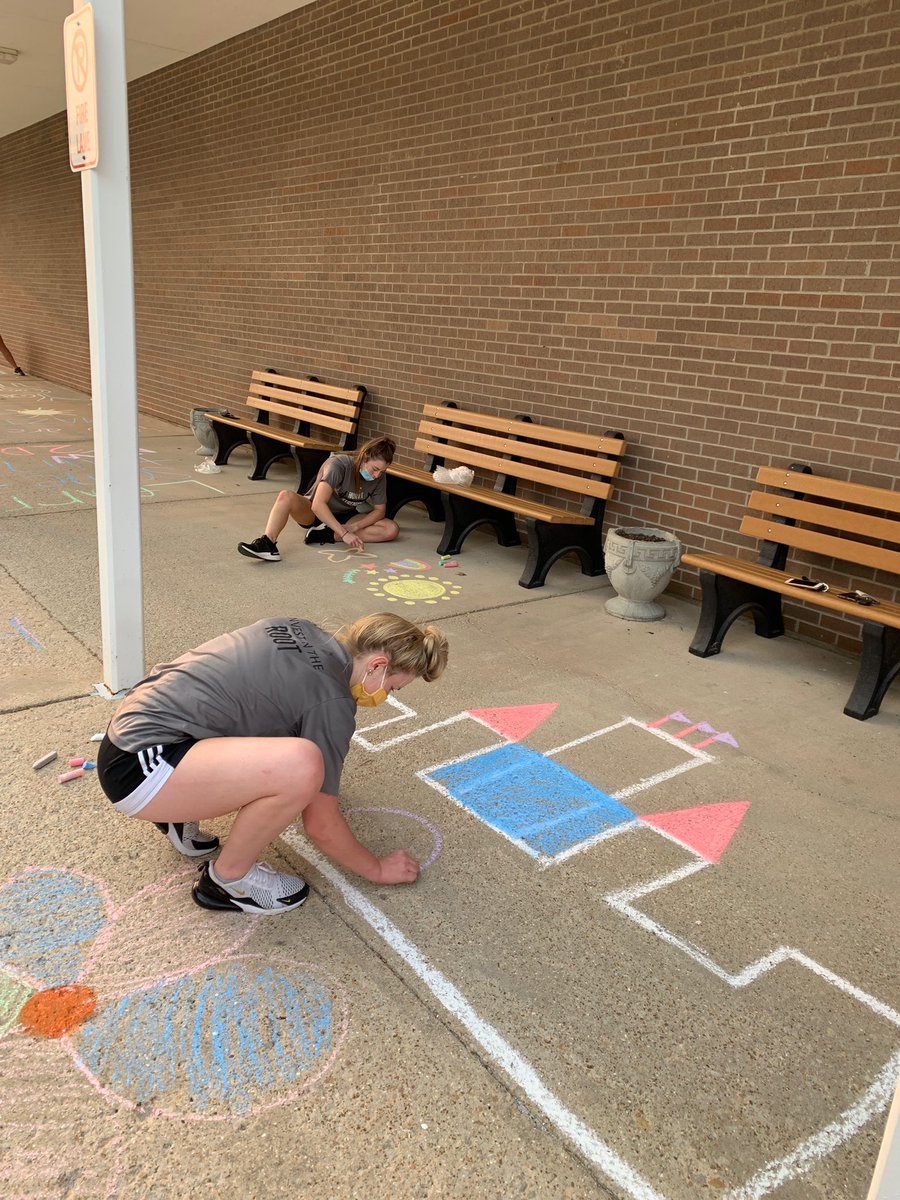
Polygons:
[[138,816],[203,821],[236,811],[216,859],[218,877],[236,880],[319,794],[323,774],[322,751],[305,738],[208,738]]

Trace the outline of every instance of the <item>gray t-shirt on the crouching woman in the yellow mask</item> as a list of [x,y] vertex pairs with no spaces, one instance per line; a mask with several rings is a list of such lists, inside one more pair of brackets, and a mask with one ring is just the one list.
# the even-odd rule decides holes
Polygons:
[[312,622],[266,617],[154,667],[109,724],[120,750],[184,738],[308,738],[337,796],[356,721],[353,660]]

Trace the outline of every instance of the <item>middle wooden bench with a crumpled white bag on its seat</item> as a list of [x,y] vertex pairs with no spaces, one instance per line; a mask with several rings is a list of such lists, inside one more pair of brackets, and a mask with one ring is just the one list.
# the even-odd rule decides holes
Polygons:
[[[388,516],[421,500],[434,521],[444,521],[439,554],[456,554],[466,538],[490,524],[500,546],[517,546],[516,517],[528,530],[528,560],[518,581],[538,588],[563,554],[574,551],[583,575],[604,574],[601,524],[612,481],[625,452],[620,433],[576,433],[539,425],[528,416],[492,416],[456,404],[425,404],[415,449],[428,455],[425,468],[392,462],[388,468]],[[473,468],[492,486],[438,484],[445,461]],[[582,499],[580,511],[560,503],[530,499],[517,487],[538,485]]]

